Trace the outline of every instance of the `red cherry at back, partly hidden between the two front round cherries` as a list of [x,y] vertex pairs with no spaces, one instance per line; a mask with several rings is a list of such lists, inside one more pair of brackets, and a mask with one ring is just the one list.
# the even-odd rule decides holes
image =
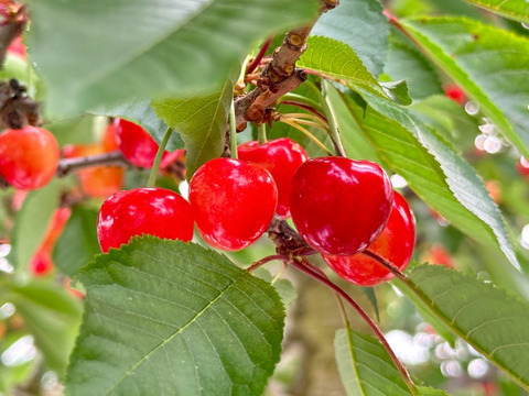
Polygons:
[[281,138],[259,144],[257,141],[244,143],[237,148],[240,160],[261,165],[270,172],[278,186],[278,208],[276,212],[283,219],[290,218],[290,196],[295,170],[309,156],[305,150],[291,139]]

